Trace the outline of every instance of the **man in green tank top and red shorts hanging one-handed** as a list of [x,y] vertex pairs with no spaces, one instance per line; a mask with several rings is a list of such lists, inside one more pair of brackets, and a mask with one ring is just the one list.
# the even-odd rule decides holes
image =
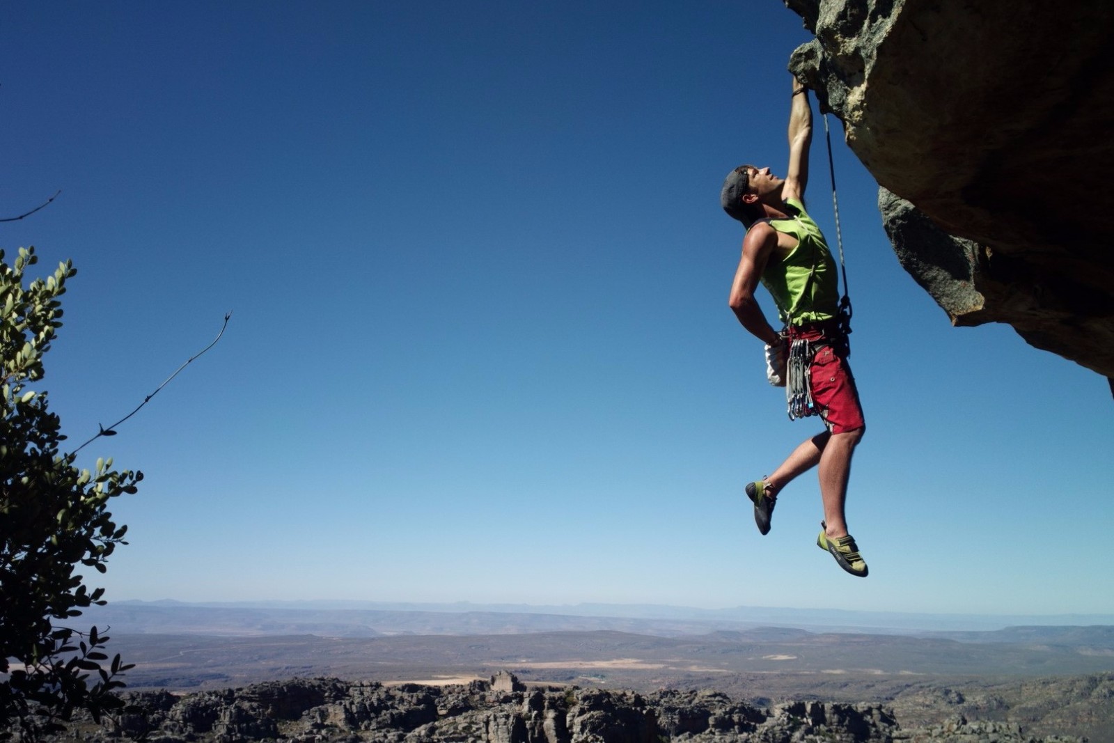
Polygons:
[[[743,327],[766,344],[771,383],[788,382],[790,418],[819,414],[827,430],[801,443],[778,469],[747,483],[745,490],[764,535],[785,486],[818,467],[824,520],[817,545],[851,575],[866,577],[867,563],[848,534],[843,514],[851,456],[866,422],[847,363],[836,262],[820,228],[804,212],[812,108],[808,89],[797,78],[791,101],[785,177],[779,178],[769,167],[741,165],[723,182],[724,211],[746,227],[729,304]],[[778,306],[784,323],[781,332],[770,325],[755,301],[760,281]]]

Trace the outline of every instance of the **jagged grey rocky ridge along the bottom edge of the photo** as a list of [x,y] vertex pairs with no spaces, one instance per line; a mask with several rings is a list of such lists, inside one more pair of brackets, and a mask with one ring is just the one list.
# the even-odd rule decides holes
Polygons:
[[[384,686],[335,678],[293,680],[224,692],[126,694],[128,712],[75,731],[87,743],[1039,743],[1016,723],[961,715],[901,730],[878,704],[791,702],[759,707],[713,691],[629,691],[529,686]],[[61,739],[60,739],[61,740]],[[1053,741],[1081,739],[1051,737]]]

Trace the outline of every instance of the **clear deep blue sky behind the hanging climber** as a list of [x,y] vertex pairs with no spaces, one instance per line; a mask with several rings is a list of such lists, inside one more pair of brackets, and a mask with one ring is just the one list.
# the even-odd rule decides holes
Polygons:
[[812,475],[759,536],[743,483],[819,427],[727,309],[719,189],[784,172],[808,38],[775,0],[4,3],[0,212],[62,193],[0,246],[78,268],[70,440],[234,313],[82,451],[146,475],[108,598],[1114,613],[1106,381],[952,329],[834,118],[870,577]]

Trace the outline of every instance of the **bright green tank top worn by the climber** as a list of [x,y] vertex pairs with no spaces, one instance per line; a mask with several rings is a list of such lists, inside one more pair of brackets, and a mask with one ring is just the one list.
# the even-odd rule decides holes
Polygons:
[[797,247],[782,257],[773,253],[762,272],[762,285],[778,305],[786,325],[831,320],[839,313],[839,275],[820,227],[795,198],[785,202],[788,219],[770,219],[778,232],[797,237]]

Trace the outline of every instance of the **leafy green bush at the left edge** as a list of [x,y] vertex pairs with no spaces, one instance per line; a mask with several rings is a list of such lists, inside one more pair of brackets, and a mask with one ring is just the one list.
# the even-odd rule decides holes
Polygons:
[[36,263],[33,247],[20,248],[13,265],[0,251],[0,740],[17,730],[33,740],[79,708],[99,720],[123,704],[111,692],[130,667],[118,655],[102,667],[108,637],[96,627],[82,634],[51,620],[104,603],[104,588],[90,589],[75,570],[105,573],[127,529],[108,504],[135,493],[143,473],[114,470],[110,459],[94,473],[78,470],[74,453],[60,451],[66,437],[49,395],[27,389],[45,375],[61,326],[58,297],[76,274],[67,261],[25,287],[23,271]]

